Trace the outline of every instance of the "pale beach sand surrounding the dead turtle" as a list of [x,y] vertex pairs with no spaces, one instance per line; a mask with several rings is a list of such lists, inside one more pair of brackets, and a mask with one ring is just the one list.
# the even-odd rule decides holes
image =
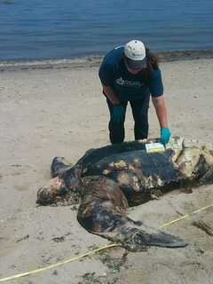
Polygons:
[[[162,64],[173,136],[212,141],[213,59]],[[108,143],[108,110],[98,67],[7,70],[0,73],[0,277],[27,272],[81,255],[107,243],[87,233],[68,207],[36,207],[36,191],[50,178],[55,155],[76,162],[86,150]],[[130,110],[126,140],[133,138]],[[150,107],[150,137],[159,125]],[[213,204],[213,185],[193,193],[169,193],[130,209],[130,216],[158,227]],[[207,210],[165,230],[186,248],[111,249],[12,283],[213,283],[213,237],[193,225],[211,222]],[[116,258],[117,257],[117,258]],[[114,260],[115,259],[115,260]]]

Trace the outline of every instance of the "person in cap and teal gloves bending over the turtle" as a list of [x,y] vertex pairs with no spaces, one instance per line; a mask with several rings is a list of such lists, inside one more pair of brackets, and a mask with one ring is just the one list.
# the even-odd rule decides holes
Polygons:
[[150,96],[161,127],[161,142],[164,145],[169,142],[161,70],[154,53],[144,43],[132,40],[109,51],[99,68],[99,78],[110,113],[108,129],[112,144],[124,140],[128,102],[135,122],[135,139],[147,138]]

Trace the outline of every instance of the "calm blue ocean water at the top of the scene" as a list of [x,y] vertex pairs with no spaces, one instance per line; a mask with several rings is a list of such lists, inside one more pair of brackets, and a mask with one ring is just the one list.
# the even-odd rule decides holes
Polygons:
[[153,51],[213,50],[213,1],[0,0],[0,60],[103,55],[133,38]]

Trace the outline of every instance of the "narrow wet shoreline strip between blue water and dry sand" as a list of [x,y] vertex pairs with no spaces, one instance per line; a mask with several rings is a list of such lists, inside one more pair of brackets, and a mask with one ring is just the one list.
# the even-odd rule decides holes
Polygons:
[[[155,52],[160,62],[212,59],[213,50],[209,51],[163,51]],[[23,59],[0,61],[0,72],[28,69],[59,69],[76,67],[99,67],[104,56],[85,56],[70,59]]]

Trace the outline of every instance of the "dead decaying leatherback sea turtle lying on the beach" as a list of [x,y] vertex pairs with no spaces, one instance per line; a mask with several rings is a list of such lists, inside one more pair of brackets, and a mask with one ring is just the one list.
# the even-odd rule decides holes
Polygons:
[[213,182],[213,146],[170,138],[162,153],[146,153],[147,142],[124,142],[88,151],[70,165],[55,157],[50,182],[39,189],[37,203],[70,201],[80,195],[77,219],[90,233],[123,247],[185,247],[185,241],[133,221],[125,209],[149,201],[154,195],[185,185]]

